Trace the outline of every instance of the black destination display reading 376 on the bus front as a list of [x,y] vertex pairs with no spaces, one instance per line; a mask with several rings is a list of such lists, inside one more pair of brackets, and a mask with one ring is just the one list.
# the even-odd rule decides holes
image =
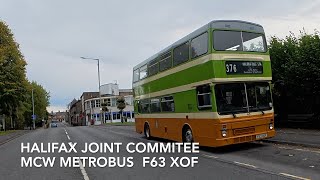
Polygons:
[[226,61],[227,74],[262,74],[261,61]]

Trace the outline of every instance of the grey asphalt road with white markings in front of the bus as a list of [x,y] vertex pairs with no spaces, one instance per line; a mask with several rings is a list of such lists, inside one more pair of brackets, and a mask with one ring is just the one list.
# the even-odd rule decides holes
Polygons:
[[[78,153],[21,153],[21,143],[77,143]],[[68,127],[39,129],[0,146],[0,179],[320,179],[320,150],[270,143],[246,143],[224,148],[200,148],[200,153],[119,153],[79,154],[85,143],[168,143],[147,140],[133,126]],[[169,142],[170,143],[170,142]],[[132,157],[133,167],[59,166],[59,158],[119,157],[118,165],[129,165],[122,158]],[[164,157],[165,167],[143,167],[143,157]],[[21,157],[56,157],[53,167],[21,167]],[[170,167],[170,157],[198,157],[194,167]],[[126,160],[126,159],[125,159]],[[40,160],[37,163],[41,162]],[[103,162],[103,161],[102,161]],[[185,164],[186,161],[183,161]],[[103,164],[103,163],[102,163]],[[92,164],[91,164],[92,165]]]

